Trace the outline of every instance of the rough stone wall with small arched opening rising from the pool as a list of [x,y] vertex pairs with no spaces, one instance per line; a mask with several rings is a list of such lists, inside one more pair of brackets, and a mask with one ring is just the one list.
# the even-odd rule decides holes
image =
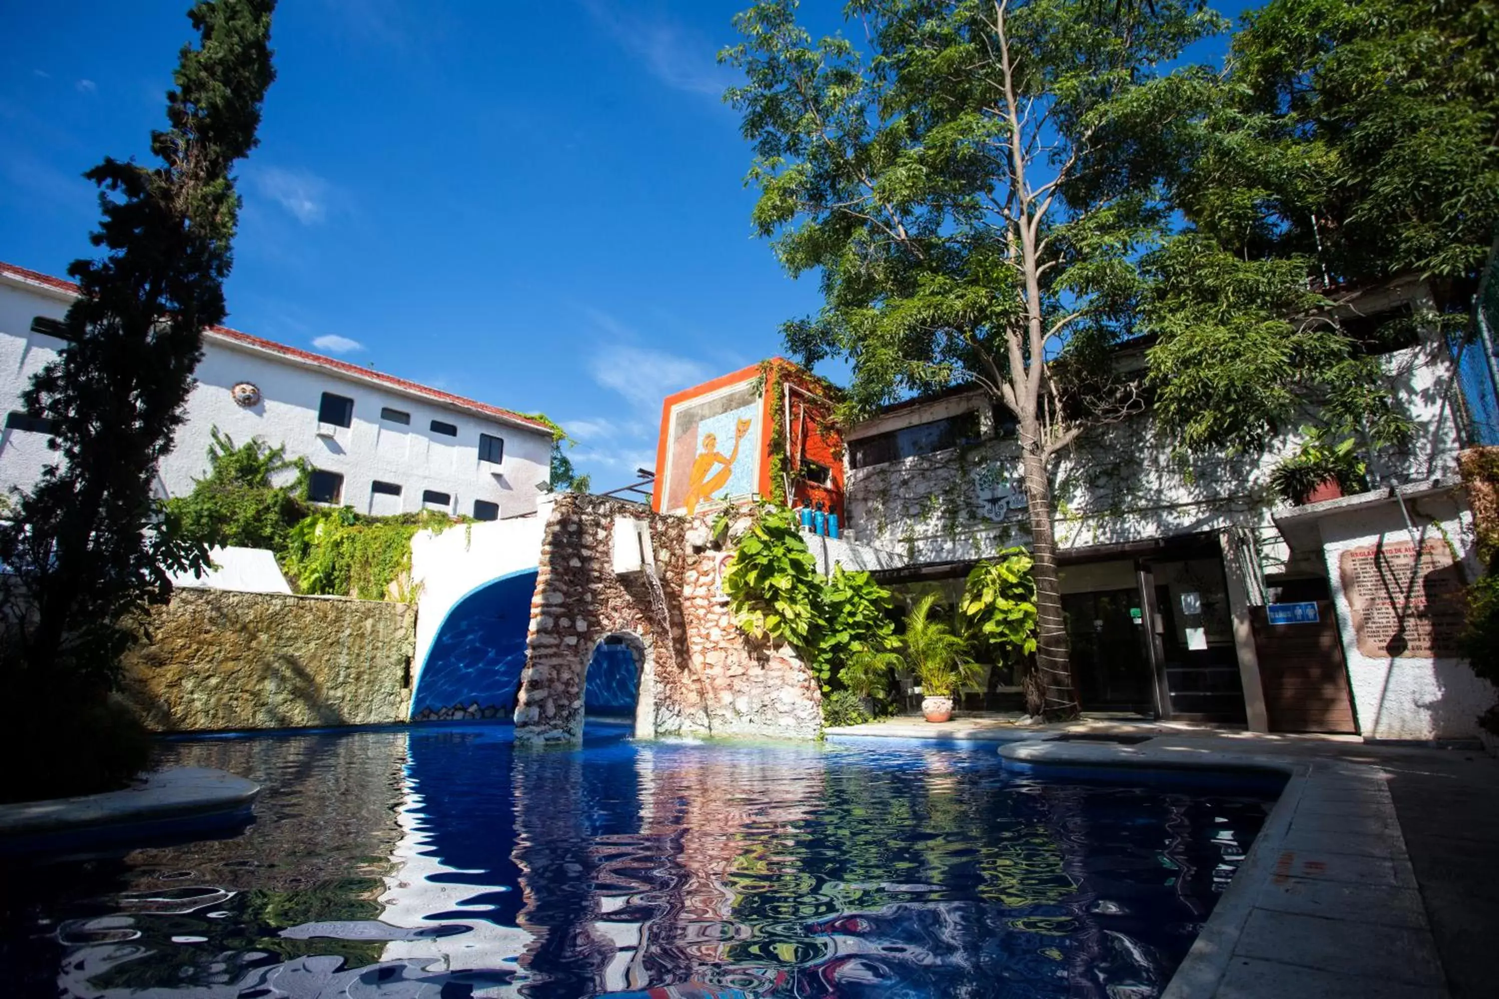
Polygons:
[[[615,572],[616,518],[649,524],[657,577]],[[519,740],[582,737],[588,664],[609,635],[628,637],[640,658],[637,737],[817,735],[815,680],[790,650],[755,647],[733,626],[717,595],[720,553],[694,551],[690,526],[637,503],[558,500],[541,545],[516,707]],[[702,524],[693,533],[706,536]]]

